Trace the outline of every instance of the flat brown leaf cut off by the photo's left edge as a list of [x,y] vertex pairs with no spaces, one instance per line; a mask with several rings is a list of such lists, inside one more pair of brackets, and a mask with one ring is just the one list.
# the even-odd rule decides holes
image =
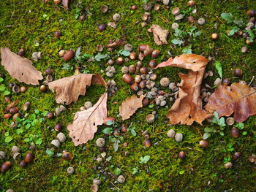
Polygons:
[[42,73],[32,64],[28,58],[22,58],[8,48],[1,48],[1,65],[12,78],[26,84],[39,85],[38,80],[42,80]]

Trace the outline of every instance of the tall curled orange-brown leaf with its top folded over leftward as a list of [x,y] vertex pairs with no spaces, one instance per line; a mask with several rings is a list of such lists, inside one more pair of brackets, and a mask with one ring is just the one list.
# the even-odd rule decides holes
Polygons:
[[178,89],[178,99],[167,112],[172,124],[192,125],[194,121],[202,124],[203,120],[212,116],[211,112],[202,109],[202,100],[200,98],[200,85],[203,80],[203,74],[208,60],[202,55],[183,54],[174,59],[159,64],[158,67],[177,66],[184,69],[190,69],[188,74],[178,74],[181,77],[181,83]]

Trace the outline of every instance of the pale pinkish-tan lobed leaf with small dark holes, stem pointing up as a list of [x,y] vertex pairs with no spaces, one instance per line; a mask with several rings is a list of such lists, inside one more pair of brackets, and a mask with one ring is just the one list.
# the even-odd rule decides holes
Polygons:
[[107,118],[107,100],[108,93],[103,93],[93,107],[75,113],[73,123],[67,126],[75,146],[94,139],[97,126],[102,125],[104,118]]

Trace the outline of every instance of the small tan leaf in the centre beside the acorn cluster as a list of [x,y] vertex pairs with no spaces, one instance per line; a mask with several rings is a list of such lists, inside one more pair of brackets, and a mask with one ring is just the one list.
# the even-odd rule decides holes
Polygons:
[[142,100],[146,95],[141,95],[139,98],[136,95],[127,98],[125,101],[122,102],[121,106],[119,107],[119,115],[121,115],[122,120],[129,119],[138,108],[142,107]]

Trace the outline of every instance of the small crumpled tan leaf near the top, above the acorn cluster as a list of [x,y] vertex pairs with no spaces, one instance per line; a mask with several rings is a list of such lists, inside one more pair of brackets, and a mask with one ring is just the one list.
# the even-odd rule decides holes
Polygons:
[[152,25],[150,28],[148,28],[148,32],[154,34],[154,42],[157,45],[165,45],[168,43],[167,36],[169,31],[167,29],[163,29],[158,25]]

